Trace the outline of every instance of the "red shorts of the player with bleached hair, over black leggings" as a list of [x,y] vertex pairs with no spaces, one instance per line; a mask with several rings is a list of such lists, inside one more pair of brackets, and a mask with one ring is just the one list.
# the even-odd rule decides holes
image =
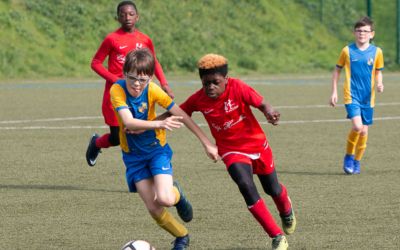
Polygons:
[[267,175],[274,171],[274,157],[271,147],[267,144],[264,151],[258,154],[247,154],[241,152],[228,152],[222,156],[226,169],[236,162],[249,164],[253,167],[253,174]]

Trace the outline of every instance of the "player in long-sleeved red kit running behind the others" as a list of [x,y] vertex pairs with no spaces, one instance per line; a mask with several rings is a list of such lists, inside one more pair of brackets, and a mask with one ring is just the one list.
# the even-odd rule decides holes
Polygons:
[[[120,2],[117,7],[117,15],[121,27],[106,36],[94,55],[91,64],[92,69],[106,80],[102,113],[105,123],[110,127],[110,133],[102,136],[95,133],[91,137],[86,151],[86,161],[89,166],[96,164],[97,156],[102,148],[119,145],[119,127],[110,101],[110,88],[114,82],[123,78],[122,68],[125,56],[129,51],[148,48],[156,58],[151,39],[135,27],[136,22],[139,20],[136,5],[132,1]],[[107,57],[108,67],[106,68],[103,62]],[[157,59],[155,60],[155,76],[159,80],[162,89],[173,98],[174,94]]]

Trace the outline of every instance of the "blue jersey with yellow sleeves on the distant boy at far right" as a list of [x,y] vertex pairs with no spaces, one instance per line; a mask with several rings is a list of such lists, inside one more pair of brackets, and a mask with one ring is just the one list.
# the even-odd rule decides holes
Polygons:
[[375,106],[375,71],[383,70],[383,53],[370,44],[360,50],[355,43],[342,49],[336,67],[345,69],[344,104]]

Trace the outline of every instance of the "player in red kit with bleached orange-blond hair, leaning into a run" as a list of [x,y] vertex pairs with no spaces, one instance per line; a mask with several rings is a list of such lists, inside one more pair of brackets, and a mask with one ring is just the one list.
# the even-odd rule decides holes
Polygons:
[[[283,231],[292,234],[296,218],[287,190],[278,182],[271,147],[251,107],[259,109],[273,125],[278,124],[280,113],[246,83],[227,76],[225,57],[207,54],[199,60],[198,67],[203,87],[181,108],[189,116],[196,111],[203,114],[216,140],[218,153],[238,185],[249,211],[273,239],[272,248],[287,249]],[[272,197],[283,231],[260,197],[253,174],[258,176],[265,193]]]

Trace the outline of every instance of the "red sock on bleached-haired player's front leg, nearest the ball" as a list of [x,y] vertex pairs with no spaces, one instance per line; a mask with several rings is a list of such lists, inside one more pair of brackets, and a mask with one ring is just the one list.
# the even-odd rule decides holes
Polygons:
[[274,238],[278,234],[283,235],[282,230],[276,224],[271,213],[268,211],[267,206],[263,199],[259,199],[256,203],[249,207],[250,212],[253,214],[254,218],[260,223],[264,228],[264,231],[269,235],[269,237]]

